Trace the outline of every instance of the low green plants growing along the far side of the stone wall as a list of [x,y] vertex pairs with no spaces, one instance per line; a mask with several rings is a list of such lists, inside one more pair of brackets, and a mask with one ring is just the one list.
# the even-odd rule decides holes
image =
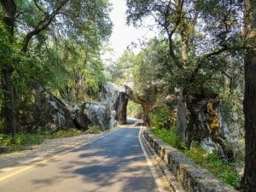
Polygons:
[[177,136],[177,128],[173,125],[166,124],[166,119],[168,119],[167,115],[166,108],[160,108],[151,113],[151,120],[153,122],[151,131],[154,135],[170,144],[172,147],[177,148],[183,154],[186,154],[191,160],[194,160],[196,164],[205,167],[224,183],[238,188],[241,177],[236,170],[236,162],[224,160],[216,150],[212,151],[212,153],[207,153],[201,148],[200,142],[193,142],[188,150]]

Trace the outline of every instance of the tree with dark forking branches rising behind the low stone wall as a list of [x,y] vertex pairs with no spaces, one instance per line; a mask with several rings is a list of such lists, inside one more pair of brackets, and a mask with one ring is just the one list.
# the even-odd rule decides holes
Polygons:
[[[178,105],[179,117],[183,117],[180,125],[187,125],[178,132],[185,134],[181,137],[189,148],[197,121],[195,102],[218,96],[214,91],[205,94],[206,83],[212,79],[211,73],[221,67],[224,55],[241,45],[240,5],[236,1],[127,0],[127,6],[129,23],[140,25],[141,20],[151,16],[166,33],[168,69],[174,77],[177,75],[176,87],[182,98]],[[189,124],[185,107],[190,113]]]

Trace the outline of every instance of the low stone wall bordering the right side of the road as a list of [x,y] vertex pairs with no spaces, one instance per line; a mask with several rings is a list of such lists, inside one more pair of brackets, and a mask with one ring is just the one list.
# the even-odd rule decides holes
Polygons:
[[177,178],[177,182],[187,192],[237,192],[230,185],[222,183],[206,169],[195,164],[176,148],[164,143],[149,131],[143,131],[148,143],[166,163]]

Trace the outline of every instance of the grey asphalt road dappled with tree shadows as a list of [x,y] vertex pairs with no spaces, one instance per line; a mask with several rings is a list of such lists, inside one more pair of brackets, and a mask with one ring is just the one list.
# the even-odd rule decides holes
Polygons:
[[159,191],[139,143],[122,128],[0,181],[1,192]]

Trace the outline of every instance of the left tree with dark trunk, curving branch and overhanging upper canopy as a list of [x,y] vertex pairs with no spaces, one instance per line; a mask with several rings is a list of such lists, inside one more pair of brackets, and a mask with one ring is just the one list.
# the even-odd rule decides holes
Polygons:
[[[108,1],[0,1],[1,22],[13,52],[2,66],[3,121],[5,132],[16,131],[13,74],[19,63],[57,37],[73,38],[77,43],[98,47],[111,33]],[[2,25],[2,24],[1,24]],[[2,38],[2,37],[1,37]],[[46,47],[46,48],[45,48]],[[35,51],[36,52],[36,51]],[[1,55],[3,57],[4,55]]]

